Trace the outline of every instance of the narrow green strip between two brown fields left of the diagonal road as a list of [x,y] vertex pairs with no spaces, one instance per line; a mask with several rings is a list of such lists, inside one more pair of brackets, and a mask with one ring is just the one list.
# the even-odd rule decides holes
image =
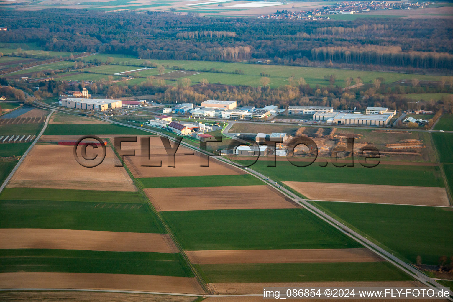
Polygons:
[[137,178],[144,188],[177,187],[223,187],[262,185],[263,182],[250,174],[181,176],[181,177],[145,177]]

